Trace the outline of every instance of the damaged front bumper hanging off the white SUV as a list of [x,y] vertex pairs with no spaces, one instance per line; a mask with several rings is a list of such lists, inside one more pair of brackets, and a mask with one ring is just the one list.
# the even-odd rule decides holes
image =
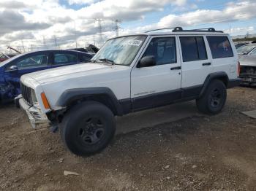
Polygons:
[[22,95],[18,95],[18,97],[15,98],[15,105],[26,112],[32,128],[37,128],[42,124],[50,124],[50,120],[48,120],[46,114],[42,113],[36,106],[29,106],[29,104],[22,98]]

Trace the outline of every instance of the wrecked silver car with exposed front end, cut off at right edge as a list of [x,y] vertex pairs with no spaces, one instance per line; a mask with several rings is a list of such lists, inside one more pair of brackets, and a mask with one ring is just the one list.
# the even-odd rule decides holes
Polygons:
[[239,62],[241,85],[256,87],[256,48],[246,55],[241,55]]

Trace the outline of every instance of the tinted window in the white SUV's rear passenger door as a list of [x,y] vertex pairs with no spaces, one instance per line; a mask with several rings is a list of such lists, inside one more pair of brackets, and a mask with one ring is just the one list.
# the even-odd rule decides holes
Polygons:
[[203,36],[181,36],[180,42],[184,62],[207,59],[206,44]]

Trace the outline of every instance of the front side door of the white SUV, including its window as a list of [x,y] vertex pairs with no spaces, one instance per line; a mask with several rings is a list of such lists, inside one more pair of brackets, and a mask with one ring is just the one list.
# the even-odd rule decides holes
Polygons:
[[143,57],[154,56],[156,66],[138,68],[131,73],[131,98],[134,111],[161,106],[181,98],[181,62],[176,36],[153,36]]

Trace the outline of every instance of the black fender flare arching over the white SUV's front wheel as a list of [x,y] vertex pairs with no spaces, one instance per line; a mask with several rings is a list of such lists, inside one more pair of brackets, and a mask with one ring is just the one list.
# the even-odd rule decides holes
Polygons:
[[99,95],[111,101],[111,104],[114,106],[111,109],[115,109],[116,114],[120,116],[123,114],[121,104],[119,104],[116,95],[108,87],[86,87],[65,90],[56,102],[56,106],[69,106],[73,101],[79,101],[89,97],[93,98],[93,96]]

